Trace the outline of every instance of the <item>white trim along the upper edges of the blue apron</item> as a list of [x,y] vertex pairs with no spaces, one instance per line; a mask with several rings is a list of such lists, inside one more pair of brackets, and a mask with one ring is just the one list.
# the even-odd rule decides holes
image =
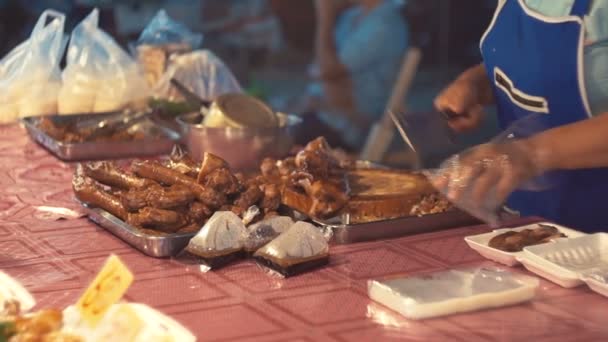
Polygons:
[[[490,26],[488,26],[488,29],[483,34],[483,36],[481,37],[481,40],[479,42],[480,49],[482,48],[486,37],[490,34],[492,29],[494,28],[494,25],[496,24],[498,16],[500,15],[500,12],[502,11],[503,7],[506,5],[507,1],[515,1],[515,0],[499,0],[499,3],[496,7],[496,11],[494,12],[494,17],[492,18],[492,22],[490,22]],[[584,67],[585,27],[584,27],[583,20],[580,17],[575,16],[575,15],[568,15],[568,16],[562,16],[562,17],[549,17],[549,16],[543,15],[541,13],[538,13],[538,12],[530,9],[528,7],[528,5],[526,5],[524,0],[517,0],[517,1],[519,1],[519,5],[521,6],[521,8],[523,8],[526,15],[528,15],[532,18],[535,18],[537,20],[540,20],[542,22],[546,22],[546,23],[550,23],[550,24],[563,24],[563,23],[567,23],[567,22],[576,22],[581,26],[581,34],[579,37],[578,53],[577,53],[577,56],[578,56],[577,57],[578,88],[579,88],[580,96],[583,99],[583,105],[584,105],[585,111],[586,111],[585,114],[587,114],[587,117],[591,117],[592,116],[591,106],[589,105],[589,99],[587,97],[587,87],[585,86],[585,67]],[[514,102],[514,103],[516,103],[516,102]]]

